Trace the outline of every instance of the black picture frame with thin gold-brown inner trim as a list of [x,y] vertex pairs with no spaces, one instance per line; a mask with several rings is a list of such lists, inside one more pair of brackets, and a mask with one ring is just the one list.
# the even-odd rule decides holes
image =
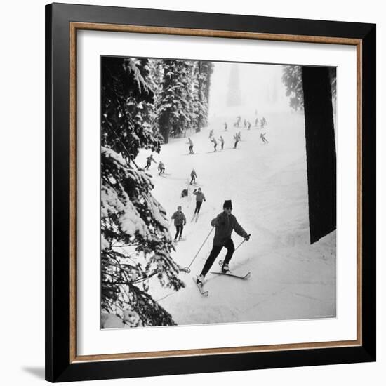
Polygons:
[[[76,36],[79,30],[345,44],[357,48],[357,339],[79,356]],[[375,361],[375,25],[46,6],[46,380],[65,382]],[[79,240],[78,240],[79,241]]]

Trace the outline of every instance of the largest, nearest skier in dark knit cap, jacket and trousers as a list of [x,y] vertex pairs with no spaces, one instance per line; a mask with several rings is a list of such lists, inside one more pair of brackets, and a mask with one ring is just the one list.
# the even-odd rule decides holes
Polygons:
[[241,237],[244,237],[246,241],[249,240],[250,235],[239,225],[234,215],[232,215],[232,201],[225,200],[223,205],[224,211],[220,213],[216,218],[213,218],[211,221],[212,227],[215,227],[215,237],[213,238],[213,248],[211,254],[206,259],[204,267],[202,268],[201,274],[197,277],[197,284],[202,286],[204,277],[208,273],[209,269],[215,262],[218,254],[220,253],[222,247],[227,248],[227,255],[225,256],[224,262],[222,263],[222,272],[227,274],[229,270],[229,261],[232,259],[234,253],[234,244],[231,239],[232,231],[239,234]]

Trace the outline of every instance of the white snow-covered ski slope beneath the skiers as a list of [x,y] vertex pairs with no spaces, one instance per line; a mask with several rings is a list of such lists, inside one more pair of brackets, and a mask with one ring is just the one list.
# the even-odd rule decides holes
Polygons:
[[[173,293],[157,280],[150,282],[149,293],[177,324],[213,324],[241,321],[310,319],[335,316],[335,232],[310,245],[308,230],[307,165],[304,118],[302,114],[266,114],[268,124],[259,128],[233,128],[223,131],[225,117],[217,117],[200,133],[192,132],[195,154],[187,153],[187,138],[171,139],[160,154],[166,175],[158,175],[157,164],[149,174],[154,183],[154,197],[166,209],[168,220],[182,206],[187,218],[185,241],[176,244],[173,258],[187,267],[199,246],[211,231],[210,221],[222,212],[225,199],[232,199],[233,214],[240,225],[251,233],[235,253],[230,267],[235,274],[251,272],[248,280],[208,273],[200,295],[192,277],[211,251],[214,232],[206,241],[192,266],[192,272],[180,273],[186,287]],[[248,117],[247,117],[248,119]],[[251,116],[249,119],[254,118]],[[224,149],[213,145],[208,131],[225,139]],[[241,142],[233,149],[233,135],[241,131]],[[269,144],[259,135],[266,132]],[[145,165],[149,151],[141,151],[136,162]],[[189,185],[190,172],[197,172],[197,185]],[[191,222],[195,207],[193,189],[201,187],[206,202],[199,219]],[[182,189],[189,195],[181,198]],[[175,235],[171,222],[170,232]],[[243,240],[232,234],[235,247]],[[211,270],[225,257],[222,249]]]

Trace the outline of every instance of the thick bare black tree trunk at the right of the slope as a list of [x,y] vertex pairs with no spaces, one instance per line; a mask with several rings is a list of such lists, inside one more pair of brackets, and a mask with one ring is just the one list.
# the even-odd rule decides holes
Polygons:
[[336,153],[326,67],[302,67],[311,244],[336,229]]

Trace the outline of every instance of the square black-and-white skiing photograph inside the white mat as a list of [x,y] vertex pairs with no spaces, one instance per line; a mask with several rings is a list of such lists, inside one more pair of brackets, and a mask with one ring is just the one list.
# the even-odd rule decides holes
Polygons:
[[335,67],[100,76],[100,327],[335,318]]

